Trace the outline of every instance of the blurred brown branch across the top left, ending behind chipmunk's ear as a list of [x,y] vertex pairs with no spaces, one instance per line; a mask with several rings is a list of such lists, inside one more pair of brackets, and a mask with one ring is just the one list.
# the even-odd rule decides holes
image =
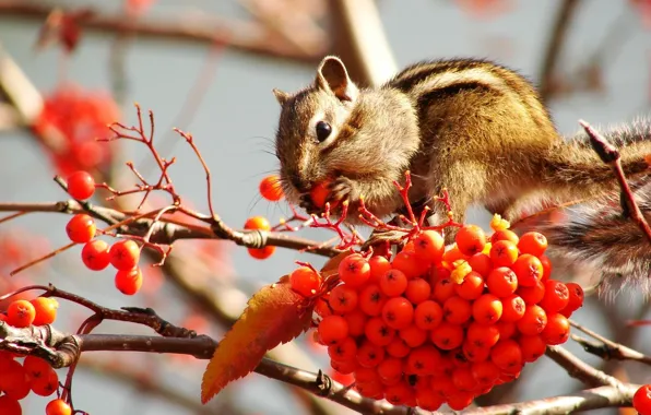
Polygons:
[[[52,11],[46,3],[23,0],[0,0],[0,16],[22,17],[44,22]],[[63,9],[66,12],[66,9]],[[144,38],[158,40],[187,40],[205,44],[224,44],[245,52],[269,57],[291,59],[299,62],[316,63],[326,54],[326,48],[301,50],[293,44],[283,42],[279,36],[256,23],[225,21],[215,16],[176,15],[166,20],[125,19],[122,14],[94,13],[80,19],[81,26],[103,33],[130,33]]]

